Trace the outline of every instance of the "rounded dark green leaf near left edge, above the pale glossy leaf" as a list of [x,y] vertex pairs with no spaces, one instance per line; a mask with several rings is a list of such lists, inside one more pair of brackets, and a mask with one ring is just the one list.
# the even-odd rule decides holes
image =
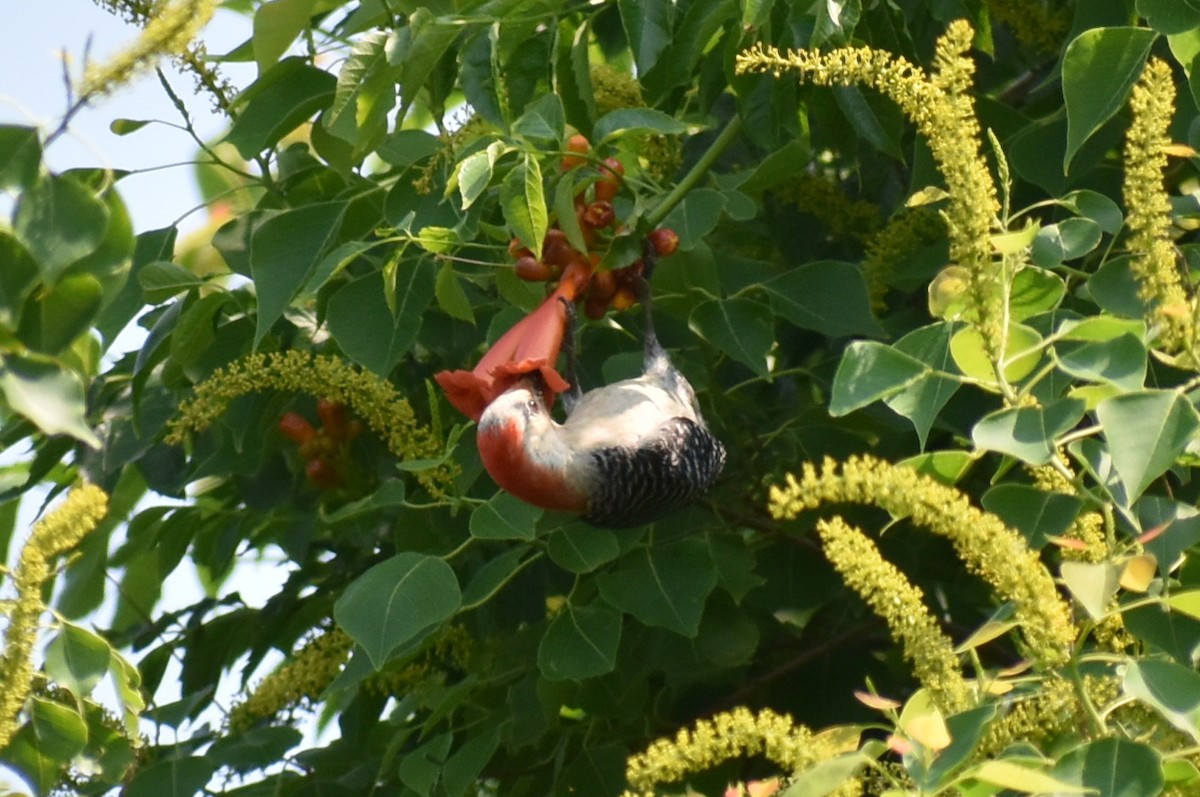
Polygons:
[[12,232],[44,282],[54,282],[68,265],[96,251],[107,228],[108,208],[67,175],[49,175],[23,191],[13,211]]

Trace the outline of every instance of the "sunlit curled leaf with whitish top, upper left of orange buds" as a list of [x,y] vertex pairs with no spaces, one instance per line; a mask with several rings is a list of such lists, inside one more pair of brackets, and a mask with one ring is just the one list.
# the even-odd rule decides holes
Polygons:
[[400,68],[388,62],[388,36],[377,30],[355,40],[337,73],[334,104],[322,120],[329,132],[360,150],[388,131],[388,114],[396,104]]

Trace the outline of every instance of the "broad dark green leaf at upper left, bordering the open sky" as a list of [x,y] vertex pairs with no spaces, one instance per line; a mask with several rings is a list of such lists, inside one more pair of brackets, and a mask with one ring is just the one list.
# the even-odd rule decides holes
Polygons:
[[281,138],[329,106],[337,78],[310,66],[302,58],[286,58],[254,80],[238,98],[226,140],[245,158],[274,146]]

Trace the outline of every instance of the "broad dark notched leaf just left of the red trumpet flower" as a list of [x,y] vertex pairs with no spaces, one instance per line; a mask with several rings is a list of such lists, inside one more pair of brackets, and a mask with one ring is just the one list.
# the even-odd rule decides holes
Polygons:
[[329,330],[346,354],[379,374],[391,372],[416,342],[421,316],[433,300],[433,266],[407,260],[396,274],[396,314],[384,298],[383,275],[364,275],[329,299]]

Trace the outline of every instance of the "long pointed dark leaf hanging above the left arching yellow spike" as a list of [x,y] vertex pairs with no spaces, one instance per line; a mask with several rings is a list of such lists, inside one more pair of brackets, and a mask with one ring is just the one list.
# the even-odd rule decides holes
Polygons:
[[283,314],[329,248],[344,202],[322,202],[268,218],[250,239],[250,270],[258,293],[254,346]]

